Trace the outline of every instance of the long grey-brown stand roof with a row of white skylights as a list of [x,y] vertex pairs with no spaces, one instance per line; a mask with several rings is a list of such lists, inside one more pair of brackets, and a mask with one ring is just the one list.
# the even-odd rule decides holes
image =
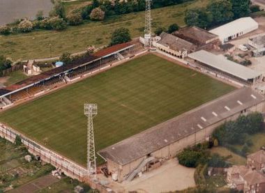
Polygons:
[[121,165],[128,164],[264,100],[263,95],[251,88],[241,88],[98,153],[106,160]]

